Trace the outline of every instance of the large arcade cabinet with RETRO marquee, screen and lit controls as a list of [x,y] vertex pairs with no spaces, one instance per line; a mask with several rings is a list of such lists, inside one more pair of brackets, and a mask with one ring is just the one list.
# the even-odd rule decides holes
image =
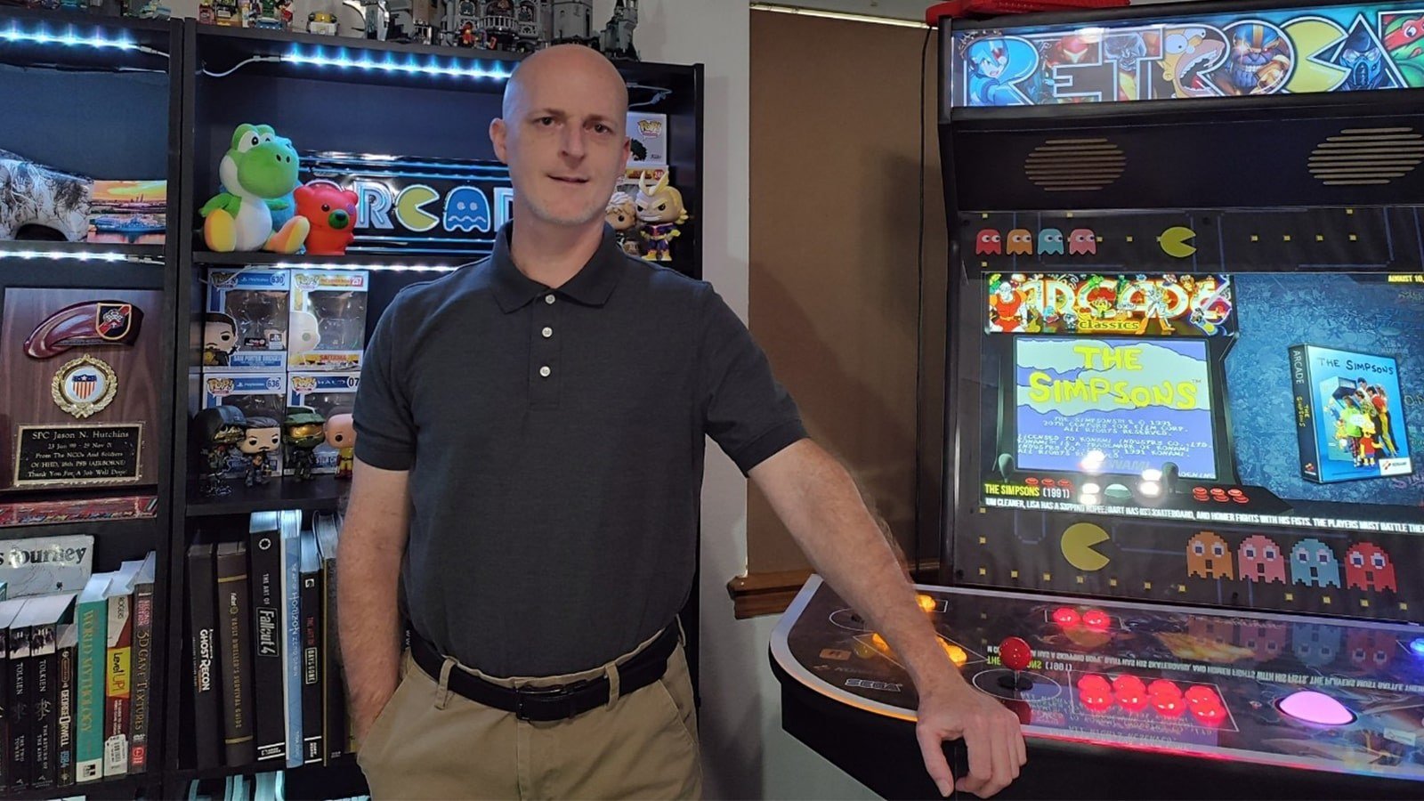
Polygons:
[[[943,20],[938,73],[920,600],[1024,724],[1002,795],[1424,797],[1424,9]],[[817,577],[772,664],[789,733],[936,795],[907,673]]]

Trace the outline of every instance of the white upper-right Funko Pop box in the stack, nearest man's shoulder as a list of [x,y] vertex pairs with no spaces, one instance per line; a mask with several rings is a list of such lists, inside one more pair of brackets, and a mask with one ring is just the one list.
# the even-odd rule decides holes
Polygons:
[[292,271],[289,371],[360,371],[369,288],[365,269]]

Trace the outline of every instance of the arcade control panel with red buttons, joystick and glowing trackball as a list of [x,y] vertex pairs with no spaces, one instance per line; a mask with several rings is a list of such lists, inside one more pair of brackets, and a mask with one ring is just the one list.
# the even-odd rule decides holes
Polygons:
[[[1424,629],[918,591],[946,653],[1018,714],[1031,751],[1054,740],[1358,774],[1393,787],[1386,795],[1424,797]],[[816,576],[773,633],[772,658],[783,683],[829,704],[914,720],[896,653]]]

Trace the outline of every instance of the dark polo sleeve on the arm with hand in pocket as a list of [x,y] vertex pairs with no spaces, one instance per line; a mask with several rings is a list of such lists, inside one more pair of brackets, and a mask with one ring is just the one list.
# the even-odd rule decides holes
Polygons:
[[383,470],[409,470],[416,462],[416,423],[410,412],[410,393],[397,352],[400,341],[400,302],[390,304],[376,322],[376,331],[362,359],[360,386],[356,388],[356,458]]

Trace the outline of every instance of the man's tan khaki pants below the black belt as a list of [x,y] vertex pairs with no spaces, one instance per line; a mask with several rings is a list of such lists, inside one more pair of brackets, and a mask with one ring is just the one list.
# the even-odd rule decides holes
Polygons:
[[[651,643],[600,668],[541,678],[496,678],[453,658],[441,677],[430,677],[407,651],[396,694],[356,754],[372,798],[699,798],[696,710],[682,646],[661,680],[618,693],[617,667]],[[503,687],[607,674],[611,700],[571,720],[524,721],[450,691],[451,670]]]

